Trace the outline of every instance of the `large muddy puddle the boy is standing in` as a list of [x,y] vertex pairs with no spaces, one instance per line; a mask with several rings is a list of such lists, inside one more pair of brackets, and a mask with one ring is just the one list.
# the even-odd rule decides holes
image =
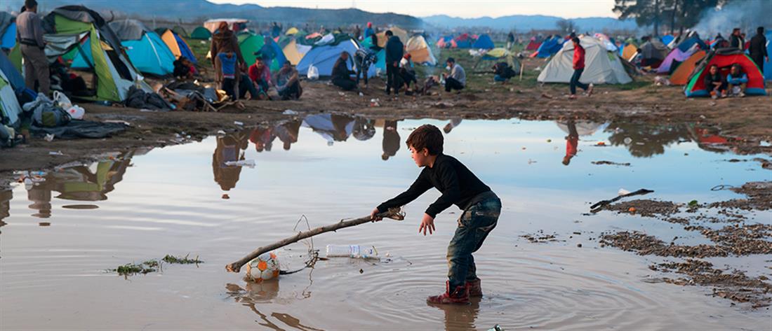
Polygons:
[[[499,226],[476,254],[482,299],[425,303],[444,289],[459,216],[452,207],[435,235],[419,236],[433,191],[405,208],[405,221],[313,241],[322,254],[327,244],[375,246],[381,262],[329,259],[262,284],[225,272],[257,246],[293,235],[300,216],[322,226],[364,216],[401,192],[418,174],[404,141],[424,123],[444,128],[445,151],[503,200]],[[767,155],[733,155],[727,139],[689,123],[322,114],[32,173],[34,182],[0,192],[0,329],[767,329],[769,309],[733,306],[709,286],[665,283],[649,269],[680,260],[598,242],[601,232],[640,231],[696,245],[707,240],[699,231],[589,212],[620,189],[655,191],[622,201],[708,204],[743,197],[716,186],[772,179],[757,160]],[[227,165],[239,160],[255,165]],[[768,209],[738,213],[748,224],[772,224]],[[307,244],[279,252],[283,268],[302,266]],[[166,254],[204,262],[129,277],[105,271]],[[770,260],[709,259],[754,277],[772,276]]]

